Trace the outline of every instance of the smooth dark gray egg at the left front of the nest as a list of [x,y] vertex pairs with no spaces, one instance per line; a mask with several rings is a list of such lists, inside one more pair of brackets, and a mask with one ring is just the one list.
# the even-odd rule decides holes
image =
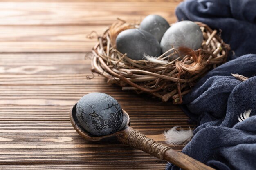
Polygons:
[[155,37],[144,30],[127,29],[117,35],[117,50],[133,60],[142,60],[144,55],[158,57],[160,44]]

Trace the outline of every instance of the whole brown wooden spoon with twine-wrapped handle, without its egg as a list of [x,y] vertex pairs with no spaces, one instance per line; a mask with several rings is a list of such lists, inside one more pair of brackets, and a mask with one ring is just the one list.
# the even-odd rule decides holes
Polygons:
[[86,132],[86,130],[79,124],[76,117],[76,104],[70,109],[71,124],[76,132],[78,132],[86,141],[126,144],[159,159],[169,161],[183,170],[215,170],[188,155],[177,152],[168,146],[147,138],[138,130],[134,130],[130,127],[130,117],[125,110],[123,110],[123,115],[124,119],[119,131],[106,136],[94,136]]

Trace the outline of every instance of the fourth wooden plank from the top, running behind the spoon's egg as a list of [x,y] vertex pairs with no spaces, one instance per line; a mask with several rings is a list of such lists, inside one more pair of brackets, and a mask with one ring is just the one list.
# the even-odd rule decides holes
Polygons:
[[[152,127],[162,128],[171,124],[187,124],[188,117],[171,102],[161,102],[148,98],[148,95],[121,91],[118,86],[105,84],[97,87],[90,84],[0,86],[0,120],[68,120],[70,107],[91,92],[103,92],[115,97],[129,113],[132,122],[141,123],[141,126],[147,122]],[[158,121],[162,123],[159,125]]]

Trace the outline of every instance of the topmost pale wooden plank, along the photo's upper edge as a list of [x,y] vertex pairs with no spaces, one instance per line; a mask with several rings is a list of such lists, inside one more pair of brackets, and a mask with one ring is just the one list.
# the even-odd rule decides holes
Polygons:
[[177,4],[177,1],[0,2],[0,25],[109,25],[117,17],[139,21],[151,13],[173,22]]

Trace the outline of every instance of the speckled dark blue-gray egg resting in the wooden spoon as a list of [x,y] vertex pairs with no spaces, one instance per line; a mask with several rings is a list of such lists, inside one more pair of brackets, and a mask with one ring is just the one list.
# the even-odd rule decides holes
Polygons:
[[96,136],[117,132],[123,122],[120,104],[105,93],[84,95],[76,105],[79,124],[90,134]]

